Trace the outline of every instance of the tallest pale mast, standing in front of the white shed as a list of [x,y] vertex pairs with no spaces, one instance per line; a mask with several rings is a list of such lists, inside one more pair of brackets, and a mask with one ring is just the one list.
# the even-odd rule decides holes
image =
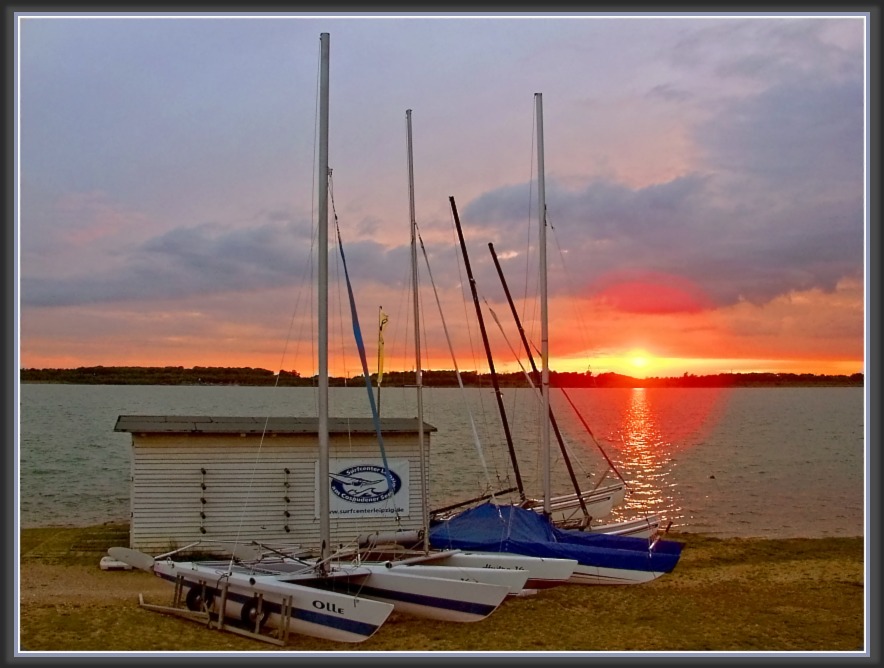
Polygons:
[[317,226],[319,237],[319,257],[317,262],[317,302],[319,346],[319,564],[320,571],[326,573],[326,559],[331,542],[328,497],[328,71],[329,35],[321,33],[319,68],[319,164],[317,181],[319,185],[319,210]]

